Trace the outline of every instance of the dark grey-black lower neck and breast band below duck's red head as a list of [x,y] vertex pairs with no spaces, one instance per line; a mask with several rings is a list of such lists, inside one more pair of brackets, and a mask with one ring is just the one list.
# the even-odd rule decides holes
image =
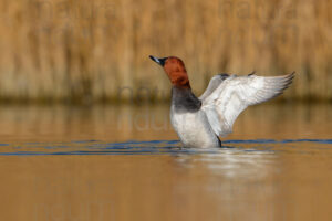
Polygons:
[[197,112],[201,102],[193,94],[190,88],[172,87],[172,106],[175,112]]

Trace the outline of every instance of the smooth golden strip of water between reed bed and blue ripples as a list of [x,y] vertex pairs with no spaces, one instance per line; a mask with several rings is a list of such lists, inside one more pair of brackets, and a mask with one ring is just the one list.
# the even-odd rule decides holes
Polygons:
[[[326,138],[332,105],[258,105],[237,119],[228,139]],[[169,106],[1,106],[1,141],[177,139]]]

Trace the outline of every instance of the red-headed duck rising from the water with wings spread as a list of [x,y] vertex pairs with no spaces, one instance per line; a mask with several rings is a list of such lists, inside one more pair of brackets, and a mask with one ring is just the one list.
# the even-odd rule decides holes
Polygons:
[[294,72],[281,76],[217,74],[197,97],[179,57],[149,59],[164,69],[172,83],[170,123],[184,147],[221,147],[219,137],[232,131],[235,120],[248,106],[279,96],[294,77]]

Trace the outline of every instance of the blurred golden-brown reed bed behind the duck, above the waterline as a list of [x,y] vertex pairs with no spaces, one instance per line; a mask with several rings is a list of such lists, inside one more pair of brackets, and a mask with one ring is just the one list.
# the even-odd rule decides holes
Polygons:
[[332,99],[332,1],[2,0],[1,101],[164,101],[148,55],[217,73],[297,71],[286,99]]

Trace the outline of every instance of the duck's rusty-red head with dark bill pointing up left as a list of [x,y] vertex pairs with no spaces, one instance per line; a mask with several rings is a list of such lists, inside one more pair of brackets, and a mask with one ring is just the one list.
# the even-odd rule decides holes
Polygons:
[[189,77],[185,64],[180,59],[176,56],[158,59],[152,55],[149,59],[164,67],[164,71],[169,77],[173,86],[190,88]]

